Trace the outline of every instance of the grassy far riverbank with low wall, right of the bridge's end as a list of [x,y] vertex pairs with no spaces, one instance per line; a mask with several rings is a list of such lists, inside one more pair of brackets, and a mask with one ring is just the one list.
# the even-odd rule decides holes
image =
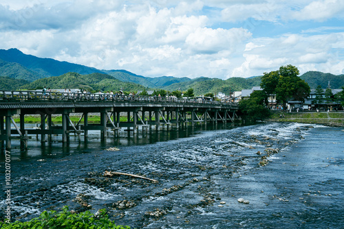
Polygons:
[[271,117],[264,121],[288,121],[342,127],[344,126],[344,112],[272,112]]

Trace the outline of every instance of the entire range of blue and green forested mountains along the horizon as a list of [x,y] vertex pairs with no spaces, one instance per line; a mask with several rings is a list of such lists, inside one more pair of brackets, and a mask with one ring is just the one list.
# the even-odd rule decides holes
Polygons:
[[[311,88],[321,85],[326,88],[344,86],[344,75],[333,75],[319,71],[308,71],[300,76]],[[126,70],[100,70],[80,64],[61,62],[52,58],[27,55],[19,49],[0,49],[0,88],[87,88],[89,91],[142,91],[164,89],[186,91],[194,89],[195,95],[205,93],[225,94],[259,86],[261,77],[232,77],[228,80],[197,77],[144,77]]]

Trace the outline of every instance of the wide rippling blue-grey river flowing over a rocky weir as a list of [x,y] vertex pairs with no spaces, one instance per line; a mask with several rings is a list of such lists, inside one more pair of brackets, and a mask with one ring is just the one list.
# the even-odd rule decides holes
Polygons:
[[[11,214],[28,220],[69,205],[107,208],[116,224],[131,228],[344,228],[341,129],[260,123],[105,142],[91,133],[87,143],[72,137],[69,145],[30,141],[28,154],[11,152]],[[105,178],[104,171],[158,183]]]

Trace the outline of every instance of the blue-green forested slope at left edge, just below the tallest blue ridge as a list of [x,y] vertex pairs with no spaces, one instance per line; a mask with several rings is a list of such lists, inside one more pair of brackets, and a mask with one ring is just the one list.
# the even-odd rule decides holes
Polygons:
[[[0,60],[0,75],[17,80],[34,81],[41,79],[42,75],[23,67],[21,64]],[[0,84],[1,85],[1,84]],[[1,86],[0,86],[1,87]]]

